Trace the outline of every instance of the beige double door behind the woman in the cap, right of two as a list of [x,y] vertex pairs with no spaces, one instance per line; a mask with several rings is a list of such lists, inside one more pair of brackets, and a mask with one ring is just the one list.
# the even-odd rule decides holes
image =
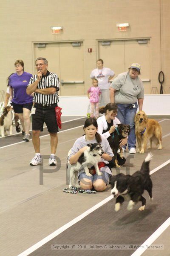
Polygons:
[[141,65],[140,78],[144,84],[144,93],[150,94],[150,40],[120,40],[111,41],[110,45],[103,45],[99,41],[99,58],[104,61],[104,67],[109,67],[119,73],[128,70],[130,65],[137,62]]

